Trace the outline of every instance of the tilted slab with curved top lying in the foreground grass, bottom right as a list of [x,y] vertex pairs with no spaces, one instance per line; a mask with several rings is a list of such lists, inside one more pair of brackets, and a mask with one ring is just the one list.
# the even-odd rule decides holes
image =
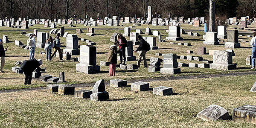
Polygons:
[[205,121],[215,121],[217,119],[229,119],[228,111],[218,105],[209,105],[197,114],[198,118]]

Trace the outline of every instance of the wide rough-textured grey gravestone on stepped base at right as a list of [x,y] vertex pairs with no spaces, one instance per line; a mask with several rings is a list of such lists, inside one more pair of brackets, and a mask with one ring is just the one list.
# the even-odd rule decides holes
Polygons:
[[210,64],[210,69],[215,69],[215,70],[236,69],[236,64],[233,64],[232,62],[232,53],[227,51],[215,51],[213,53],[213,63]]

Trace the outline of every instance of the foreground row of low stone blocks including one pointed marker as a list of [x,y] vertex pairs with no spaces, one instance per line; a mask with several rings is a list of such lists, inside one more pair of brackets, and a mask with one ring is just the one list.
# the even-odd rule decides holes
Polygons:
[[[126,87],[127,81],[122,79],[113,79],[110,81],[110,87]],[[149,90],[149,83],[138,81],[131,84],[132,91],[147,91]],[[76,98],[90,98],[91,101],[105,101],[109,99],[109,94],[105,89],[105,81],[101,79],[96,81],[92,90],[76,90],[75,86],[71,84],[50,84],[47,85],[47,92],[58,92],[61,95],[74,95]],[[153,94],[160,96],[172,95],[172,87],[154,87]]]

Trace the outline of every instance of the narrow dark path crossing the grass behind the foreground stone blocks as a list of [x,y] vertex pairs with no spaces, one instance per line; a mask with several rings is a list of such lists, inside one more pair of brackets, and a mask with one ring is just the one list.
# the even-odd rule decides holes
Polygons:
[[[237,72],[237,73],[226,73],[226,74],[212,74],[212,75],[199,75],[199,76],[171,76],[171,77],[160,77],[153,79],[133,79],[128,80],[128,83],[133,83],[137,81],[169,81],[169,80],[180,80],[180,79],[201,79],[201,78],[216,78],[216,77],[227,77],[227,76],[247,76],[256,75],[254,72]],[[84,83],[84,84],[73,84],[75,87],[93,87],[94,83]],[[109,85],[109,81],[105,82],[105,85]],[[46,87],[35,87],[35,88],[24,88],[24,89],[13,89],[13,90],[0,90],[0,93],[11,93],[19,91],[31,91],[31,90],[44,90]]]

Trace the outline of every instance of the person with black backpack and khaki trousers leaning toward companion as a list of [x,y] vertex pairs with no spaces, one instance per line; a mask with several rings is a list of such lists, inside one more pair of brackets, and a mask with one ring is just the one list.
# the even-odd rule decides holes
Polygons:
[[136,50],[134,50],[134,52],[140,51],[137,66],[140,67],[140,61],[141,58],[143,57],[144,67],[148,67],[146,52],[150,50],[150,45],[140,35],[138,35],[138,40],[140,41],[140,46]]

